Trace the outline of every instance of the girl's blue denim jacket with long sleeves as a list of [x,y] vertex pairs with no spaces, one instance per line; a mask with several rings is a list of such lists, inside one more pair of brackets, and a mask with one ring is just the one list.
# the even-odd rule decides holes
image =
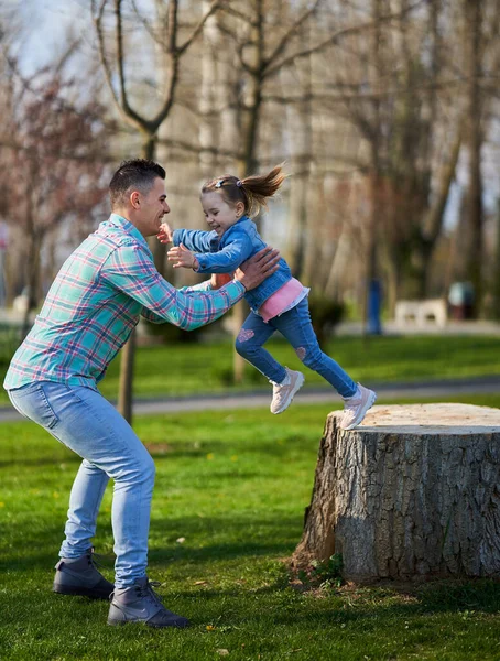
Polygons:
[[[220,238],[215,231],[176,229],[173,240],[174,246],[183,243],[196,254],[199,263],[197,273],[232,273],[246,259],[265,248],[256,224],[248,216],[240,218]],[[291,279],[289,264],[280,259],[278,271],[248,291],[244,297],[257,312],[271,294]]]

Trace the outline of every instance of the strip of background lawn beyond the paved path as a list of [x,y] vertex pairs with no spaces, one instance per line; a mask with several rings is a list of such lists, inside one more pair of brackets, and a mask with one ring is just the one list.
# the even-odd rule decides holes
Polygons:
[[[307,387],[326,386],[316,372],[303,368],[292,347],[280,340],[267,345],[282,365],[304,369]],[[480,377],[500,373],[500,338],[485,336],[404,336],[331,339],[326,350],[356,381],[402,381],[417,379]],[[231,386],[232,346],[175,344],[140,348],[137,354],[135,397],[188,395],[235,390]],[[100,384],[102,393],[117,397],[119,359],[109,367]],[[7,361],[0,359],[0,378]],[[247,367],[244,383],[236,390],[269,387],[256,369]],[[0,403],[7,403],[0,390]]]

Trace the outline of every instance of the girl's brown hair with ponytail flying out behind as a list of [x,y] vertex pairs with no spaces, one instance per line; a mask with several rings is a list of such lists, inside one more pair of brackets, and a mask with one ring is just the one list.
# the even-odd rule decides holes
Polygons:
[[222,174],[204,184],[202,195],[220,191],[225,202],[232,205],[242,202],[247,216],[253,217],[261,207],[268,208],[267,197],[272,197],[285,178],[281,165],[276,165],[268,174],[254,174],[242,180],[232,174]]

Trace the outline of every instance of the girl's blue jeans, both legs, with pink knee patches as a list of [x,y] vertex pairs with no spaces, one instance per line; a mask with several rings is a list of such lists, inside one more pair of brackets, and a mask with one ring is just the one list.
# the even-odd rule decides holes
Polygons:
[[290,342],[302,362],[326,379],[341,397],[352,397],[356,393],[357,386],[349,375],[319,348],[311,322],[307,297],[269,322],[251,312],[236,340],[236,350],[240,356],[270,381],[281,383],[286,376],[285,368],[262,348],[275,330]]

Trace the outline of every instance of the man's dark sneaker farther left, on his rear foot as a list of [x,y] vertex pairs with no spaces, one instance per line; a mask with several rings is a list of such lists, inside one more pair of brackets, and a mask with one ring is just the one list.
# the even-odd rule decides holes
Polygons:
[[63,557],[55,565],[52,589],[62,595],[78,595],[90,599],[109,599],[115,585],[102,576],[96,567],[94,551],[76,559]]

